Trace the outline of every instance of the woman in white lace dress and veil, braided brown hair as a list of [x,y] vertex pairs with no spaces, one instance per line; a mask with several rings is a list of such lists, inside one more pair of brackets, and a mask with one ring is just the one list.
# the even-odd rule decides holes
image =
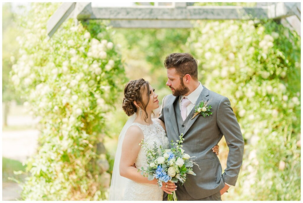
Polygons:
[[[148,167],[146,152],[139,145],[142,139],[150,148],[154,142],[169,148],[165,124],[158,118],[151,119],[153,110],[159,107],[157,98],[155,89],[142,78],[128,82],[124,88],[122,108],[130,118],[119,135],[109,200],[162,201],[163,192],[172,194],[177,188],[171,182],[163,182],[159,188],[156,179],[149,181],[138,172]],[[213,149],[218,154],[218,147]]]

